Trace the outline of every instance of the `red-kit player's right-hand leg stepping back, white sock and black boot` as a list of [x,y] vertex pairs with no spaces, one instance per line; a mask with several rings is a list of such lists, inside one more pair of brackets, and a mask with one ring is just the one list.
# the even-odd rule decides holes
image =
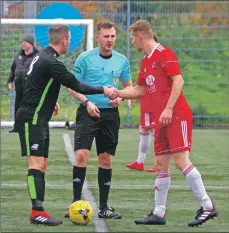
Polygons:
[[197,211],[195,220],[188,223],[188,226],[202,225],[209,219],[218,216],[218,211],[212,204],[206,193],[199,171],[189,160],[189,151],[182,151],[173,154],[176,167],[183,173],[188,186],[192,189],[194,196],[200,201],[200,209]]

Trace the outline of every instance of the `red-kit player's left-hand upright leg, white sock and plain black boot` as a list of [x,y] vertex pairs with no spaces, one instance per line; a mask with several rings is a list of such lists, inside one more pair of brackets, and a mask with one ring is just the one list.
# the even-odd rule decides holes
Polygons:
[[170,155],[159,155],[156,157],[156,181],[155,181],[155,208],[151,213],[143,218],[135,220],[136,224],[145,225],[165,225],[165,210],[166,200],[169,191],[171,177],[169,171],[169,164],[171,161]]

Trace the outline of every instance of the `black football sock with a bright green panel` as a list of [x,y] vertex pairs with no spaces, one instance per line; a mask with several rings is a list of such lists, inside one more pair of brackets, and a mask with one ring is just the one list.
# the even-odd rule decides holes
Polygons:
[[27,184],[30,199],[32,201],[32,209],[43,211],[43,201],[44,201],[44,193],[45,193],[45,181],[44,181],[44,173],[40,170],[29,169]]

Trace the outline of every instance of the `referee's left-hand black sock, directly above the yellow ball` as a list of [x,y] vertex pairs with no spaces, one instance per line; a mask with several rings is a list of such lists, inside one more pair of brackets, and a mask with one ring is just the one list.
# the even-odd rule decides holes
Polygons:
[[73,202],[81,199],[86,167],[73,166]]

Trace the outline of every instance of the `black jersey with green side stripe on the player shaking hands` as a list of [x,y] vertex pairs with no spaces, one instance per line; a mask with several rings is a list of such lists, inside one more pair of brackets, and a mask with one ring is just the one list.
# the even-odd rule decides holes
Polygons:
[[36,125],[50,121],[61,84],[82,94],[102,94],[103,87],[79,82],[58,59],[51,47],[41,50],[33,59],[27,73],[24,96],[16,114],[16,122]]

